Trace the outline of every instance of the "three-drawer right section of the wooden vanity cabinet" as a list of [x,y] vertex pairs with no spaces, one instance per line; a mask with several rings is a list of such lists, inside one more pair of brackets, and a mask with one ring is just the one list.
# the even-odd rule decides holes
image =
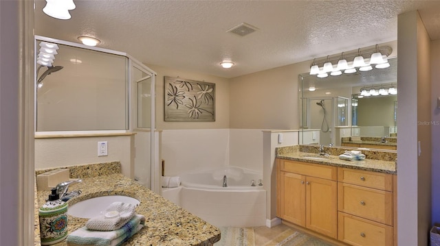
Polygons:
[[395,244],[395,180],[388,173],[338,167],[338,240]]

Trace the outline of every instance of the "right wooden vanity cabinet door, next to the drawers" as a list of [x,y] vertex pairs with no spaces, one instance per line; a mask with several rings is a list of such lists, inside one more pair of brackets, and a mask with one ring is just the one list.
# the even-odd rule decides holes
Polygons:
[[307,228],[332,238],[338,237],[337,192],[336,181],[307,177]]

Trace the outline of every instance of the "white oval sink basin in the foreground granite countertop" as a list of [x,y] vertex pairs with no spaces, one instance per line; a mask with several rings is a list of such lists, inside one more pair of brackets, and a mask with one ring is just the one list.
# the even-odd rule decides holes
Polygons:
[[122,201],[125,203],[137,206],[140,201],[125,195],[107,195],[102,197],[93,197],[84,201],[78,201],[76,204],[67,208],[67,214],[74,217],[90,219],[101,214],[107,207],[115,201]]

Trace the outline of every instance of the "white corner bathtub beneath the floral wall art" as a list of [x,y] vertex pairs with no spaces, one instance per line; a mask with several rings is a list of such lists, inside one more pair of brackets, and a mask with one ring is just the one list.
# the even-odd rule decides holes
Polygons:
[[[223,175],[228,187],[222,187]],[[192,214],[217,226],[265,225],[266,191],[261,173],[238,167],[184,173],[181,186],[162,188],[162,195]],[[256,186],[251,186],[254,180]]]

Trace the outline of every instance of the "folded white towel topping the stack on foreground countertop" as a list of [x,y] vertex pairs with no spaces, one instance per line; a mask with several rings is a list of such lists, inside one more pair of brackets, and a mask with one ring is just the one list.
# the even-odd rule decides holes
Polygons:
[[115,201],[97,217],[87,221],[85,226],[89,230],[114,231],[125,225],[135,216],[135,206],[133,204]]

